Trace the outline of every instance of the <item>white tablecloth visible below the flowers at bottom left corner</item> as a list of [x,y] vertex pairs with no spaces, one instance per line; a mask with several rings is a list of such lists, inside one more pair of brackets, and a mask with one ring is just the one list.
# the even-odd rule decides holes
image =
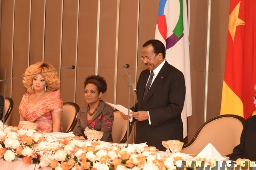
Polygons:
[[[14,162],[4,161],[0,158],[0,170],[38,170],[39,165],[36,164],[25,164],[22,160],[15,160]],[[40,170],[52,170],[51,167],[40,168]]]

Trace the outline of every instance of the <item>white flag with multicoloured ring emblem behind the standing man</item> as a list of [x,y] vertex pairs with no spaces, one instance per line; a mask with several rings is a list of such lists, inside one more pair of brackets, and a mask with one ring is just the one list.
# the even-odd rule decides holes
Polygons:
[[166,46],[166,61],[182,71],[186,98],[181,113],[183,136],[187,136],[187,117],[192,115],[188,14],[186,0],[159,0],[155,39]]

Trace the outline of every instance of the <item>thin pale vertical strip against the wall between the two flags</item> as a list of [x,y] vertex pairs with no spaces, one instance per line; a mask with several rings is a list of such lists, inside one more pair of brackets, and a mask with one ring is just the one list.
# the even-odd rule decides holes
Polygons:
[[208,95],[208,70],[209,70],[209,50],[210,50],[210,22],[211,22],[211,0],[208,0],[207,12],[207,32],[206,32],[206,62],[204,76],[204,122],[207,118],[207,95]]

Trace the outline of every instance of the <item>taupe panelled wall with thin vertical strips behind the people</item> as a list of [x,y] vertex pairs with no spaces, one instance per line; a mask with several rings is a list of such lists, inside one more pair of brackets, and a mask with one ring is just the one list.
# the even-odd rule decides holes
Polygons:
[[[86,106],[84,80],[106,78],[104,101],[128,107],[128,76],[136,82],[145,69],[140,49],[154,39],[158,0],[1,0],[0,79],[21,76],[36,61],[59,71],[64,102]],[[210,63],[207,119],[219,115],[226,55],[229,1],[211,4]],[[206,0],[190,1],[190,68],[193,115],[188,117],[190,140],[203,121],[206,57]],[[4,82],[0,83],[1,94]],[[14,100],[12,125],[18,125],[18,106],[26,88],[22,79],[6,83],[6,97]],[[134,92],[130,93],[130,106]]]

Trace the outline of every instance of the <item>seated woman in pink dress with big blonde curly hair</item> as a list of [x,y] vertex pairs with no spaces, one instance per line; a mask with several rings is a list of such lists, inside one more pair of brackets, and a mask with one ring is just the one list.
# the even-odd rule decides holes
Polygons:
[[[38,124],[36,130],[40,132],[61,132],[61,116],[63,101],[60,96],[60,80],[54,67],[46,62],[30,65],[25,71],[23,79],[28,93],[22,97],[19,113],[20,121]],[[42,73],[50,71],[47,73]],[[38,74],[36,74],[38,73]],[[36,74],[36,75],[31,75]],[[20,127],[20,123],[18,125]]]

